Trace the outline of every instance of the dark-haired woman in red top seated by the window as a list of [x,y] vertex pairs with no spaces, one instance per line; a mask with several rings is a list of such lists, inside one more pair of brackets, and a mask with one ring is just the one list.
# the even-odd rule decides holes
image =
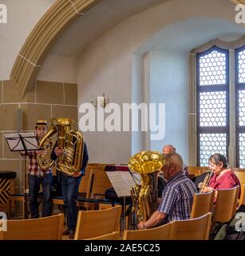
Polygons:
[[[204,187],[203,192],[210,192],[211,190],[230,189],[239,186],[239,197],[241,193],[241,185],[239,178],[231,170],[227,163],[227,158],[223,154],[212,154],[208,159],[209,168],[213,173],[208,186]],[[217,191],[215,192],[215,201]]]

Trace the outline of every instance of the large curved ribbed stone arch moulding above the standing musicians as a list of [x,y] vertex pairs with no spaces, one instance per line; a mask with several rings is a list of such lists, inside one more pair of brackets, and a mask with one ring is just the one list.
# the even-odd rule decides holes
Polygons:
[[49,50],[67,26],[95,6],[101,0],[57,0],[39,20],[11,70],[10,79],[22,96],[34,86],[41,65]]

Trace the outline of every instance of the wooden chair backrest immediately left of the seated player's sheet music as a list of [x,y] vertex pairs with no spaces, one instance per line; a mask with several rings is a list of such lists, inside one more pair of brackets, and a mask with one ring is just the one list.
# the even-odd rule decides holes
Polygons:
[[105,167],[93,169],[93,185],[91,190],[91,198],[105,198],[105,190],[113,187],[105,172]]

